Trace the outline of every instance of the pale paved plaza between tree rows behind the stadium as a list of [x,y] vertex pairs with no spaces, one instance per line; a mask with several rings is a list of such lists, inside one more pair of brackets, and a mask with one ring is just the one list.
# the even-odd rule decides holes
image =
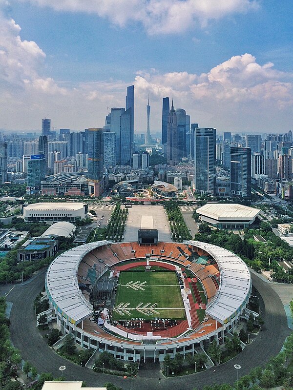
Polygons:
[[159,241],[172,241],[163,206],[133,205],[128,209],[126,224],[124,242],[137,241],[138,229],[158,229]]

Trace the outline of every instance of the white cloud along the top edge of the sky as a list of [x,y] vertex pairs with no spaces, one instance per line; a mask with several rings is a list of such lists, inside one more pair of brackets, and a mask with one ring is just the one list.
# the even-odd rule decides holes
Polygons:
[[85,12],[108,18],[125,26],[140,22],[149,34],[186,31],[194,23],[206,26],[209,20],[246,13],[258,8],[256,0],[21,0],[57,11]]

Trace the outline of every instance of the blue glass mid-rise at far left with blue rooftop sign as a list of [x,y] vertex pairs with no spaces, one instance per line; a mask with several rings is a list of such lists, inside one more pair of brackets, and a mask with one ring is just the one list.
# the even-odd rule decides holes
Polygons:
[[45,177],[46,159],[44,154],[32,155],[27,162],[27,194],[38,192],[41,187],[41,181],[45,180]]

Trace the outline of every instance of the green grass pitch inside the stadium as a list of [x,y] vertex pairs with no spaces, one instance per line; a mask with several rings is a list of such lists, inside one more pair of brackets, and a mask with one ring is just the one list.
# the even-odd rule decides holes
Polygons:
[[175,272],[120,273],[112,319],[120,321],[133,318],[185,318],[181,288]]

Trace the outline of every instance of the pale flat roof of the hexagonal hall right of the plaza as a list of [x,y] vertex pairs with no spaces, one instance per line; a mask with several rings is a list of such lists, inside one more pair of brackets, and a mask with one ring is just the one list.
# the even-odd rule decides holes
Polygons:
[[250,221],[257,217],[260,209],[230,203],[212,203],[199,207],[196,212],[218,221],[243,220]]

